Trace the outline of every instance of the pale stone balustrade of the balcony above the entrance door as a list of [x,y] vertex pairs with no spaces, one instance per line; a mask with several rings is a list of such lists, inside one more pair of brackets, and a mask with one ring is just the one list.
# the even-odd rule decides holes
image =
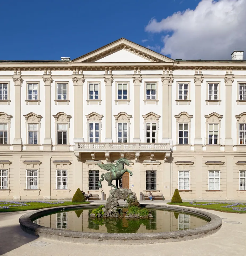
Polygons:
[[80,152],[137,152],[170,151],[170,143],[75,143],[75,151]]

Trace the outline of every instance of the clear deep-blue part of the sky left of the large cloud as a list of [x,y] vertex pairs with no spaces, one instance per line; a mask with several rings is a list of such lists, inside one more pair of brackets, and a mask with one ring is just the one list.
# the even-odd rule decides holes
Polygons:
[[[76,58],[121,37],[143,46],[163,45],[144,28],[195,0],[1,1],[0,59]],[[143,39],[148,41],[142,42]]]

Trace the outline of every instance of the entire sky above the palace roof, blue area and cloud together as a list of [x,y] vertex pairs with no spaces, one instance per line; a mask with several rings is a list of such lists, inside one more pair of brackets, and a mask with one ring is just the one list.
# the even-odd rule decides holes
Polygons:
[[246,0],[0,1],[0,59],[75,59],[119,38],[173,59],[246,50]]

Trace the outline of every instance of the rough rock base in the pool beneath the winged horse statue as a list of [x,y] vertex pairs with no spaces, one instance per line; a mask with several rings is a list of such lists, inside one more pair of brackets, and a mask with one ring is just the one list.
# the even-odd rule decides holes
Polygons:
[[119,209],[119,199],[126,200],[128,206],[140,207],[136,196],[130,189],[111,189],[105,207],[102,208],[104,214],[91,213],[90,217],[97,218],[152,218],[151,213],[148,216],[142,217],[139,214],[127,213],[127,208]]

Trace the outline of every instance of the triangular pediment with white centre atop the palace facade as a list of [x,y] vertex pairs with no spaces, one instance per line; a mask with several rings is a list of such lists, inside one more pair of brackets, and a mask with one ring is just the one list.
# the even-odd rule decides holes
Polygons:
[[121,38],[97,50],[82,55],[72,61],[80,62],[97,62],[97,63],[114,63],[114,62],[174,62],[162,54],[156,53],[146,47]]

